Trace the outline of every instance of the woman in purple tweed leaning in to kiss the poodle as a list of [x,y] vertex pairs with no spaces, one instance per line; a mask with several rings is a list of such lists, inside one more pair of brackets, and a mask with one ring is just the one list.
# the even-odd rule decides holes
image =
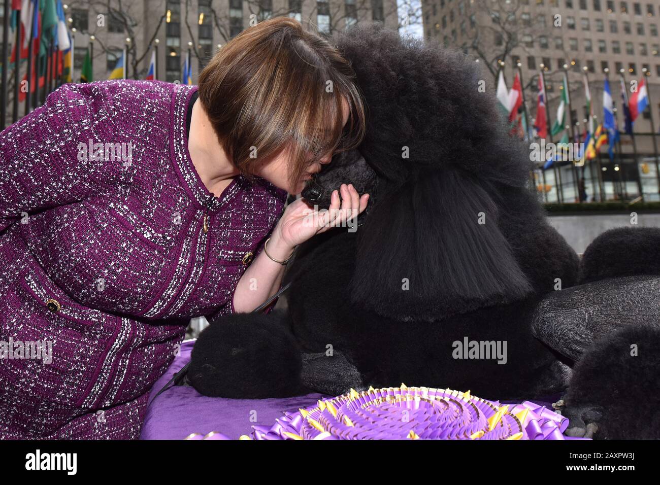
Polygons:
[[321,218],[282,214],[362,139],[352,76],[273,18],[199,89],[67,84],[0,134],[0,437],[138,437],[189,319],[255,309],[297,244],[364,210],[343,185]]

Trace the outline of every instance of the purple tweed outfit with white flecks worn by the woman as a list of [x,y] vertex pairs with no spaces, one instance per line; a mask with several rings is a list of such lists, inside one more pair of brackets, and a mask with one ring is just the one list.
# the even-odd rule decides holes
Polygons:
[[196,89],[65,84],[0,133],[0,438],[139,437],[188,320],[234,311],[286,192],[238,176],[213,197]]

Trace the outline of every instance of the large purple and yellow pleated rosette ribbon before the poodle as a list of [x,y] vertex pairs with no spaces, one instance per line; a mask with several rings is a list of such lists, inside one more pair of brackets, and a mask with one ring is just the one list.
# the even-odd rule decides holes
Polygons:
[[322,399],[243,439],[566,439],[568,420],[529,401],[500,404],[451,389],[385,387]]

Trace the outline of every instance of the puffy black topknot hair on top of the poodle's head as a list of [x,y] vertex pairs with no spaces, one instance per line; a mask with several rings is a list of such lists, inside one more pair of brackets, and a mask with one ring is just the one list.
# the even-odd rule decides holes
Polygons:
[[508,136],[479,63],[378,23],[356,25],[336,44],[366,102],[359,150],[381,176],[403,182],[420,169],[453,165],[481,179],[525,184],[529,152]]

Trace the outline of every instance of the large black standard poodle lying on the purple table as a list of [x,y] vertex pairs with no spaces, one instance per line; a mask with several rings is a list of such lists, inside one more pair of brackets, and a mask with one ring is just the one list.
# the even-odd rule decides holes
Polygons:
[[[368,209],[356,230],[335,228],[298,247],[284,278],[291,283],[286,310],[213,321],[193,348],[189,383],[204,395],[233,398],[401,383],[487,399],[566,393],[575,434],[620,435],[616,416],[603,409],[608,388],[600,372],[612,372],[613,382],[632,379],[615,372],[626,365],[622,342],[630,339],[655,355],[636,365],[657,364],[659,334],[630,325],[634,331],[622,337],[606,324],[605,341],[594,347],[597,335],[585,330],[584,318],[553,316],[553,304],[564,302],[564,313],[566,302],[575,305],[576,292],[556,300],[578,284],[579,258],[546,221],[529,186],[529,146],[508,136],[494,96],[479,89],[479,65],[377,24],[341,34],[337,47],[364,94],[367,132],[303,196],[327,207],[333,189],[353,183],[371,194]],[[657,251],[657,234],[649,237]],[[588,284],[597,291],[609,278],[616,294],[625,278],[595,270],[607,263],[598,258],[583,265]],[[626,277],[638,278],[631,266]],[[643,278],[636,282],[648,295],[659,280]],[[604,321],[626,311],[610,310]],[[657,342],[655,349],[646,342]],[[647,384],[658,393],[657,377]],[[632,388],[638,395],[640,386]],[[657,437],[657,422],[649,433]]]

